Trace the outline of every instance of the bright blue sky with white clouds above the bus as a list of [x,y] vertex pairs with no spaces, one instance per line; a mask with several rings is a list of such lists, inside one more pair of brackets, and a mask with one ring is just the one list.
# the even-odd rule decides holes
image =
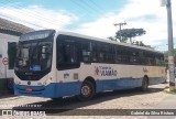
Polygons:
[[[167,12],[161,0],[1,0],[0,18],[34,30],[56,29],[106,39],[122,29],[144,29],[138,36],[157,51],[167,50]],[[176,0],[172,0],[176,41]],[[175,47],[175,46],[174,46]]]

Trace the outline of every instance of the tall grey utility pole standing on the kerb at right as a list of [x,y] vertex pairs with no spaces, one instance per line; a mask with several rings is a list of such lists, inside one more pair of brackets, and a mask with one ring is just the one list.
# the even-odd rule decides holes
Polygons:
[[167,32],[168,32],[168,72],[169,72],[169,90],[176,90],[175,87],[175,65],[174,65],[174,43],[173,43],[173,20],[170,0],[162,0],[162,6],[167,9]]

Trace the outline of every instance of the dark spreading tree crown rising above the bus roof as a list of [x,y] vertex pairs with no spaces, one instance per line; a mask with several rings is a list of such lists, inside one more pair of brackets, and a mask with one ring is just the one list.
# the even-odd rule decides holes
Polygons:
[[[116,37],[120,40],[120,42],[128,41],[130,39],[131,44],[133,43],[132,37],[141,36],[145,34],[146,31],[143,29],[123,29],[116,33]],[[121,39],[120,39],[121,36]]]

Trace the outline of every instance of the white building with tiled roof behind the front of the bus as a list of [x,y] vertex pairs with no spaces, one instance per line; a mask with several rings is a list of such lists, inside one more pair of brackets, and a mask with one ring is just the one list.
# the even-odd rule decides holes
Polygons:
[[15,46],[19,36],[33,29],[0,18],[0,96],[8,93],[13,79]]

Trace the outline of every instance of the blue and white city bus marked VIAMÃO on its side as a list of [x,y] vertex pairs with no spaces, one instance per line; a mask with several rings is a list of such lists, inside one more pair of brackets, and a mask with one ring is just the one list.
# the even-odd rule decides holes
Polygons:
[[151,48],[55,30],[20,37],[14,94],[88,100],[96,93],[165,82],[164,55]]

